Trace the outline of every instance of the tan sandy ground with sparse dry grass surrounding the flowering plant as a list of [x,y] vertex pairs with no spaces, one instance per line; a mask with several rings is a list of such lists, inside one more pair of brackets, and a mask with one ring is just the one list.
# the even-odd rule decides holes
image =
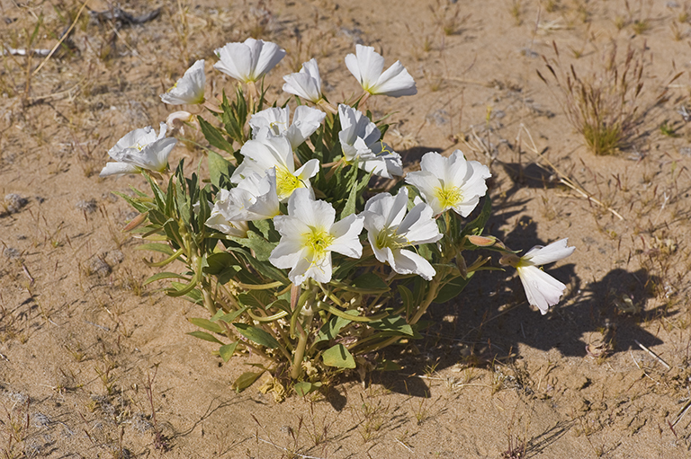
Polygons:
[[[52,48],[81,6],[0,5],[0,39],[13,49]],[[691,131],[678,113],[690,95],[688,3],[153,6],[159,17],[140,25],[99,23],[85,10],[72,51],[45,65],[2,57],[2,457],[691,455]],[[135,15],[153,6],[121,4]],[[185,318],[204,311],[141,287],[155,271],[121,233],[133,214],[111,191],[146,183],[98,172],[122,135],[166,118],[158,94],[193,60],[207,59],[213,91],[231,87],[211,73],[212,50],[249,34],[288,52],[267,78],[281,101],[281,76],[310,57],[331,100],[359,93],[343,63],[355,43],[387,65],[400,59],[419,92],[368,102],[395,111],[386,140],[410,166],[455,148],[490,164],[489,232],[511,247],[569,237],[576,252],[549,269],[569,284],[561,304],[541,316],[513,272],[480,273],[458,301],[430,308],[438,325],[424,340],[387,351],[401,372],[280,403],[260,384],[233,392],[258,360],[223,364],[185,334],[194,330]],[[556,57],[552,43],[558,75],[570,65],[604,75],[613,46],[617,62],[629,47],[642,57],[642,119],[623,151],[584,146],[543,60]],[[176,147],[172,162],[183,157],[204,161]]]

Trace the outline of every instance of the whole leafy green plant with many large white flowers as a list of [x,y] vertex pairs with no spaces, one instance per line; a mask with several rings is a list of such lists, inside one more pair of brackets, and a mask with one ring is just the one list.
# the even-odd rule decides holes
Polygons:
[[[139,212],[125,230],[147,241],[141,249],[154,258],[146,262],[161,269],[145,284],[165,281],[167,295],[205,310],[189,319],[200,329],[190,334],[219,358],[264,360],[234,389],[269,373],[277,398],[306,395],[339,372],[392,366],[381,349],[423,339],[429,308],[461,296],[480,270],[500,269],[488,254],[516,267],[542,313],[559,301],[565,285],[539,266],[569,255],[566,240],[523,257],[508,249],[485,233],[487,166],[458,150],[432,152],[404,178],[401,156],[384,143],[388,126],[357,110],[371,94],[417,92],[398,61],[384,70],[383,57],[358,45],[346,66],[366,93],[336,109],[314,59],[283,78],[298,97],[282,102],[267,98],[274,91],[263,80],[285,55],[278,45],[247,39],[216,54],[213,68],[240,84],[205,95],[198,61],[161,99],[205,98],[203,111],[171,113],[172,134],[163,123],[158,133],[131,131],[101,174],[140,172],[148,181],[150,196],[118,193]],[[203,137],[194,143],[206,163],[189,172],[180,159],[162,174],[183,127],[185,146]],[[486,304],[498,308],[493,301]]]

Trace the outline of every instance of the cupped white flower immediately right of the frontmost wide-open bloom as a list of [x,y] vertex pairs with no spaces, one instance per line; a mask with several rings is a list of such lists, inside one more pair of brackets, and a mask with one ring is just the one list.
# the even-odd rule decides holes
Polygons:
[[442,238],[436,226],[432,208],[420,202],[408,215],[408,189],[399,190],[395,197],[380,193],[364,205],[364,227],[377,260],[388,261],[399,274],[417,274],[432,280],[436,271],[416,252],[403,250],[421,243],[435,243]]

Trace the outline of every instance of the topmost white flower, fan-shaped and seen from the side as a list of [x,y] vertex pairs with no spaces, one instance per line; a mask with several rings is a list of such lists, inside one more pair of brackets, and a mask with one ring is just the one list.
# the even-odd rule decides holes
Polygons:
[[285,49],[280,49],[275,43],[255,39],[227,43],[214,52],[220,60],[213,68],[243,83],[260,80],[285,56]]

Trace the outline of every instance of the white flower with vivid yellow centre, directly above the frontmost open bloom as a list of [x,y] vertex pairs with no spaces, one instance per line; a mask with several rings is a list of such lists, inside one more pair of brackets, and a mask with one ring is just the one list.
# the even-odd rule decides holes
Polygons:
[[319,160],[310,159],[295,170],[291,143],[285,137],[270,137],[261,140],[247,140],[240,149],[245,160],[233,172],[230,181],[239,183],[256,172],[262,176],[275,168],[278,199],[284,201],[294,190],[306,188],[312,192],[310,179],[319,172]]

